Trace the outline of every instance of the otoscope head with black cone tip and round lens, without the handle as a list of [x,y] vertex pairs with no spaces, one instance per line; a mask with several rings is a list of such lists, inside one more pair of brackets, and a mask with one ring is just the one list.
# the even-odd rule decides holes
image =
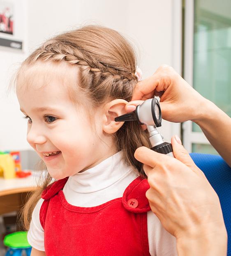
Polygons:
[[120,115],[115,118],[116,122],[136,121],[139,124],[161,126],[162,116],[159,101],[156,98],[148,99],[138,105],[133,112]]

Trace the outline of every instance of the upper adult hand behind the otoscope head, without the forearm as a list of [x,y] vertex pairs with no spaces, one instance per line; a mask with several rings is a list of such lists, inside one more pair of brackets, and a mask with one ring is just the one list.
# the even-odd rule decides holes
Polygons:
[[131,112],[135,108],[128,106],[140,105],[154,96],[160,97],[162,117],[170,122],[197,119],[201,113],[201,107],[208,101],[172,67],[162,65],[152,76],[137,83],[132,101],[127,103],[125,110]]

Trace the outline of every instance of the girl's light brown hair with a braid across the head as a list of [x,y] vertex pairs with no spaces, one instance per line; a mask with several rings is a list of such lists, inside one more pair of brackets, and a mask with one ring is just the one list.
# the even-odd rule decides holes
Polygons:
[[[96,109],[112,99],[131,101],[138,82],[135,75],[137,63],[134,49],[120,33],[104,26],[83,26],[47,40],[22,63],[16,73],[15,84],[19,76],[23,76],[23,70],[37,61],[65,61],[69,65],[76,65],[78,87],[72,90],[70,97],[77,102],[77,95],[83,94],[91,103],[89,113],[91,109]],[[143,164],[135,159],[134,152],[141,146],[150,148],[148,132],[143,131],[137,122],[125,122],[112,136],[116,152],[122,150],[123,161],[146,178]],[[41,164],[44,165],[42,168],[46,169],[43,161]],[[51,176],[47,172],[42,185],[39,185],[25,204],[22,215],[26,230],[42,190],[50,182]]]

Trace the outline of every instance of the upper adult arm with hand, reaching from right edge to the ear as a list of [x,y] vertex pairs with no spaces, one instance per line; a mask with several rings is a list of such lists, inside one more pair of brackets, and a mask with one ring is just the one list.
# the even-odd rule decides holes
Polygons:
[[[170,122],[192,120],[198,124],[211,145],[231,167],[231,118],[214,103],[196,92],[172,67],[163,65],[149,78],[138,82],[132,101],[137,106],[144,100],[160,97],[163,119]],[[145,125],[142,125],[144,129]]]

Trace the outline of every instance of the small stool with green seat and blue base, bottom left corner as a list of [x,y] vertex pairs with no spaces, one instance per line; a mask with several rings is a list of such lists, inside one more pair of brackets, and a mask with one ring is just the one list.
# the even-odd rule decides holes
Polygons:
[[23,251],[30,256],[32,247],[27,241],[27,231],[6,235],[3,242],[5,246],[9,247],[5,256],[21,256]]

